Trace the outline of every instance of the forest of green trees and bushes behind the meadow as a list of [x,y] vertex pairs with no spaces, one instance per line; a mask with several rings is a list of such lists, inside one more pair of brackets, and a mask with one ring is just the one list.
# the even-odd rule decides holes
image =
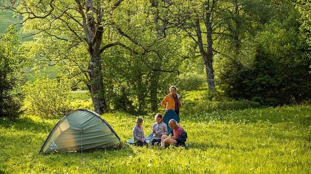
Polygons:
[[[31,114],[63,115],[75,107],[69,91],[77,90],[89,92],[89,107],[99,114],[155,113],[171,85],[185,97],[206,90],[205,105],[311,99],[308,1],[14,2],[1,1],[1,8],[20,20],[24,40],[12,26],[1,37],[1,80],[9,84],[1,95],[11,96],[17,108],[24,96]],[[54,81],[25,75],[42,69],[52,69]],[[44,105],[55,112],[40,111]],[[14,111],[20,110],[3,113]]]

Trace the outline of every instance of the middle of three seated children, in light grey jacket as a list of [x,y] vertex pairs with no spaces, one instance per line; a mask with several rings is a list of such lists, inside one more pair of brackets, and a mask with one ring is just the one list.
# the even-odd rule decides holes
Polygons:
[[152,125],[151,133],[154,134],[152,137],[151,145],[161,145],[161,136],[168,133],[167,126],[162,122],[162,114],[157,113],[155,115],[156,122]]

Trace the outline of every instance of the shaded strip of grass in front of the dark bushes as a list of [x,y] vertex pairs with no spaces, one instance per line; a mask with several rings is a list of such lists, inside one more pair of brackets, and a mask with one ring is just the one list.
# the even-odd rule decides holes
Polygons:
[[311,108],[303,109],[289,108],[264,108],[264,109],[245,109],[245,110],[228,110],[216,112],[202,112],[196,114],[183,114],[182,121],[189,122],[223,122],[234,123],[239,125],[247,124],[279,124],[295,123],[297,125],[311,126]]

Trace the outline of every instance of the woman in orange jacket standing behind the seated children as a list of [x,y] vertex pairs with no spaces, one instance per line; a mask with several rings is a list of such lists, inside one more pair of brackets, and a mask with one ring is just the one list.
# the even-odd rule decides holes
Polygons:
[[[177,116],[179,116],[179,108],[181,106],[180,98],[181,96],[176,93],[177,87],[172,86],[169,88],[170,93],[164,97],[161,101],[161,106],[164,108],[165,112],[169,109],[173,109],[176,112]],[[165,104],[167,105],[165,106]]]

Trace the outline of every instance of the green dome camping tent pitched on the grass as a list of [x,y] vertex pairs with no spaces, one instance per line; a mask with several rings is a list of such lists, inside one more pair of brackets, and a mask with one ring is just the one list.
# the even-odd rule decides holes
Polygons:
[[122,148],[117,133],[98,114],[78,109],[66,114],[54,126],[40,153],[93,151]]

